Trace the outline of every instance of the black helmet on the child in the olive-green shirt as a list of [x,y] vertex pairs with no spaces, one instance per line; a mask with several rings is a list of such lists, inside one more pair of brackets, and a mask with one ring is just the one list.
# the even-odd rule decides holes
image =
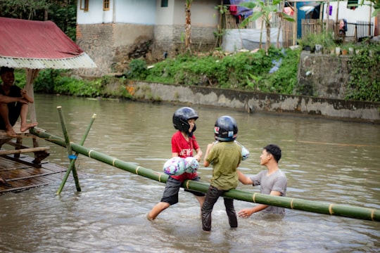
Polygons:
[[235,141],[237,124],[233,117],[222,116],[215,122],[214,133],[217,141]]

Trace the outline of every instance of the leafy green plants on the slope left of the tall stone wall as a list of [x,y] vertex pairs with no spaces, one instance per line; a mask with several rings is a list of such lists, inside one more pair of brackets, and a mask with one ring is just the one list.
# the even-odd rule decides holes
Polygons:
[[[224,56],[222,52],[209,56],[183,55],[156,63],[147,70],[148,82],[213,86],[248,91],[291,93],[297,82],[300,51],[270,48],[269,55],[238,52]],[[280,63],[281,62],[281,63]],[[279,65],[272,73],[273,67]],[[273,70],[272,70],[273,71]],[[141,79],[140,79],[141,80]]]

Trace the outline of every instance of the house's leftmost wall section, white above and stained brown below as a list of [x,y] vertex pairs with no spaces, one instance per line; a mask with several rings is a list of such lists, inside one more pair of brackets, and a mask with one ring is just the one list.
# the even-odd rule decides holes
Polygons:
[[122,73],[131,58],[152,60],[149,45],[156,20],[153,2],[110,0],[110,10],[103,11],[103,0],[89,0],[89,11],[83,11],[78,1],[77,44],[98,67],[76,72],[89,76]]

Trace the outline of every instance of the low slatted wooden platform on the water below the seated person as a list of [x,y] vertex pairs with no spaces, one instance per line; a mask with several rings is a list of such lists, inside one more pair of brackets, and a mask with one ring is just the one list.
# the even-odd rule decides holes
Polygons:
[[0,194],[46,186],[56,181],[61,182],[67,170],[50,162],[42,162],[41,167],[35,167],[32,163],[33,157],[21,154],[14,160],[13,156],[0,156],[0,177],[9,184],[6,186],[0,183]]

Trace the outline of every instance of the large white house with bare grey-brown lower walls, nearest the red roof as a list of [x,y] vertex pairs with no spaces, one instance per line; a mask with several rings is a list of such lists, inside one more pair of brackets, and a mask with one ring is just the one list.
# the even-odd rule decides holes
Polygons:
[[[220,0],[194,0],[191,42],[196,51],[215,46]],[[77,44],[98,66],[80,74],[124,72],[131,58],[161,60],[183,50],[185,0],[78,0]]]

